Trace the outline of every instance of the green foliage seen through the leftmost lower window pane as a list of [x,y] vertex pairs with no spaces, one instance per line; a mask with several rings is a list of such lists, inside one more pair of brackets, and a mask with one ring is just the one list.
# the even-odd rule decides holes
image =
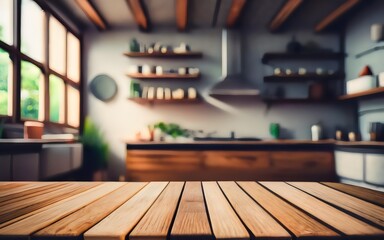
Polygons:
[[8,115],[9,62],[9,54],[0,48],[0,115]]

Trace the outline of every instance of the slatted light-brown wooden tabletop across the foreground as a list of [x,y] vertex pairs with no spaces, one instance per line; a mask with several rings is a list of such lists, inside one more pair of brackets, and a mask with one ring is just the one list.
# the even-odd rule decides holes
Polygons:
[[384,193],[316,182],[0,182],[0,239],[384,239]]

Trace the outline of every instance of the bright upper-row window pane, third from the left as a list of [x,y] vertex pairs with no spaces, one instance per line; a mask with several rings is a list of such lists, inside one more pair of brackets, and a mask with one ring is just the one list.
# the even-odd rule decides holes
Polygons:
[[49,66],[65,75],[66,29],[56,18],[49,18]]

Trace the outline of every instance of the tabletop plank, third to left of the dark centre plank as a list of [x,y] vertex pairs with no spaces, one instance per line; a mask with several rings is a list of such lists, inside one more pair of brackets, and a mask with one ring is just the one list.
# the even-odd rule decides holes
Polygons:
[[34,234],[37,238],[78,237],[120,207],[147,183],[127,183]]

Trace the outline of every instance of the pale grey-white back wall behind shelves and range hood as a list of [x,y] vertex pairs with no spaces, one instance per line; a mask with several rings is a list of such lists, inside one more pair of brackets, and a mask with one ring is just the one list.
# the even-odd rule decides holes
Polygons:
[[[178,45],[186,42],[192,50],[202,51],[202,59],[135,59],[123,56],[128,50],[129,40],[151,43],[159,41]],[[244,33],[243,72],[247,80],[262,87],[265,67],[261,56],[265,51],[283,51],[291,34],[272,36],[268,33]],[[310,33],[298,35],[299,40],[326,40],[328,47],[337,50],[337,36],[318,37]],[[327,47],[327,46],[325,46]],[[268,126],[278,122],[282,136],[294,139],[310,139],[310,126],[321,122],[329,137],[337,126],[354,127],[353,109],[344,105],[326,104],[277,104],[269,108],[259,99],[240,98],[223,101],[210,98],[208,90],[220,80],[221,75],[221,32],[219,30],[195,30],[189,33],[158,31],[144,34],[136,31],[90,32],[85,35],[85,77],[87,86],[98,74],[108,74],[118,85],[117,96],[104,103],[96,99],[86,88],[86,114],[89,115],[105,133],[110,144],[110,175],[117,178],[125,171],[124,139],[136,131],[157,121],[178,123],[185,128],[218,131],[219,135],[229,136],[235,131],[239,137],[269,138]],[[148,82],[154,86],[195,86],[205,101],[190,105],[140,105],[127,100],[130,79],[125,76],[130,64],[162,65],[165,67],[194,66],[201,70],[200,80]],[[303,90],[301,90],[303,91]],[[305,88],[304,91],[307,91]]]

